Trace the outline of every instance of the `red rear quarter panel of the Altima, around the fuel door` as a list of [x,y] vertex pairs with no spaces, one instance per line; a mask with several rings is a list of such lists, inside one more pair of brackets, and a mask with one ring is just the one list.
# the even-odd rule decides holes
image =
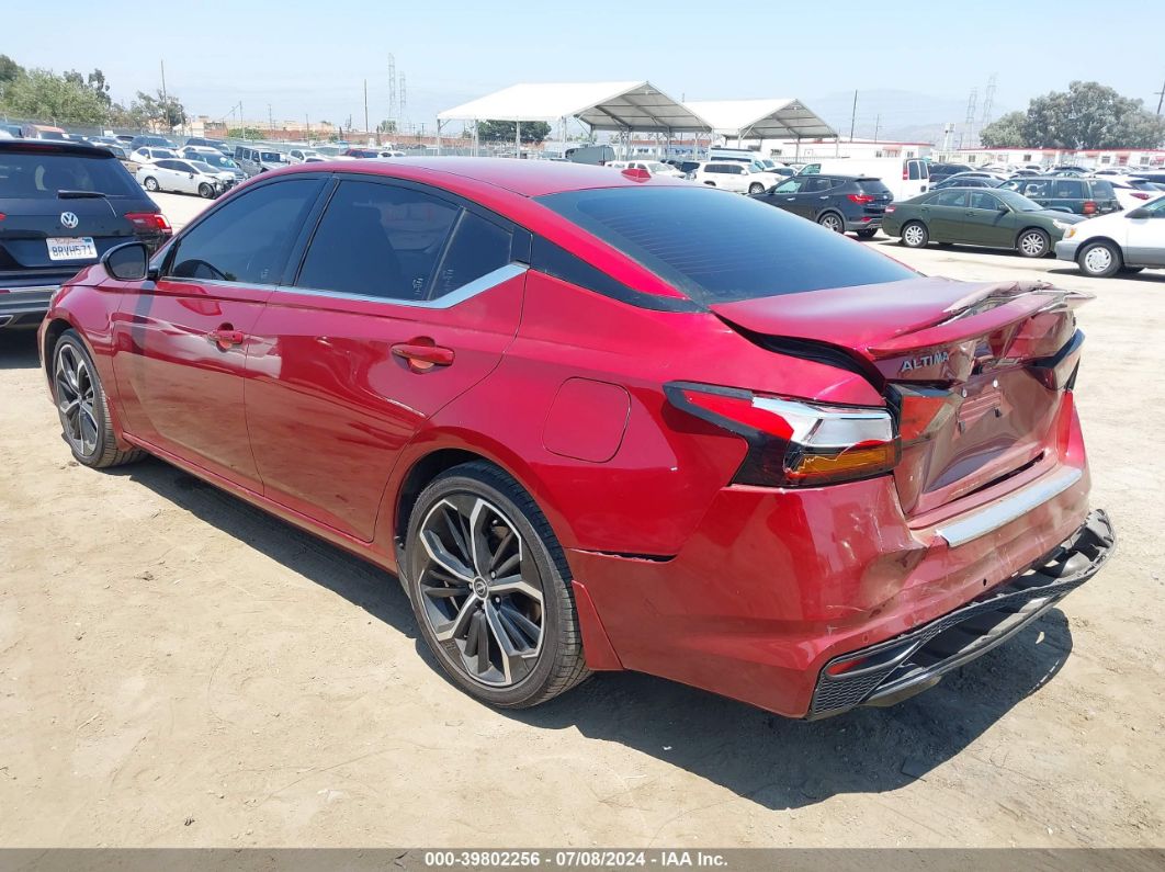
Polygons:
[[[555,397],[571,378],[617,385],[630,397],[626,433],[608,461],[562,456],[544,445]],[[774,355],[712,314],[642,309],[531,270],[522,324],[501,364],[418,434],[389,492],[424,454],[467,448],[535,496],[564,547],[676,554],[732,480],[746,445],[672,409],[662,387],[675,380],[882,402],[860,376]],[[609,407],[580,405],[573,423],[601,427],[609,416]],[[391,523],[382,518],[380,527],[379,536]]]

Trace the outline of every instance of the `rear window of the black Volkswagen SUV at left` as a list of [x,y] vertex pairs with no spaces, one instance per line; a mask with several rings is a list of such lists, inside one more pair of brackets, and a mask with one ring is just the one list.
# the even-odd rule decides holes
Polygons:
[[0,150],[0,199],[51,199],[58,191],[142,197],[137,183],[112,156]]

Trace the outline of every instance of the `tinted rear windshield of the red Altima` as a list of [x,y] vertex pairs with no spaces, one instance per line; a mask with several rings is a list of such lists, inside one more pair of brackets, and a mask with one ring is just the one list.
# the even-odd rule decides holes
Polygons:
[[839,233],[701,187],[607,187],[537,198],[701,305],[913,278]]

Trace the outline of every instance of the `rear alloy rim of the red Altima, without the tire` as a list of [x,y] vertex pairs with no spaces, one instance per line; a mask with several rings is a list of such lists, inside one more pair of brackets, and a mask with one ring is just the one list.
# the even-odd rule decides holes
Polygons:
[[454,494],[417,534],[422,612],[438,644],[474,681],[522,681],[542,650],[543,582],[517,527],[493,503]]

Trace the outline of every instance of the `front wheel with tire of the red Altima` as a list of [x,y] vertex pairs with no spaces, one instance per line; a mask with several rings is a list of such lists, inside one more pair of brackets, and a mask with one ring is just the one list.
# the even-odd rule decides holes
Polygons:
[[52,349],[52,398],[65,441],[78,463],[93,469],[132,463],[144,453],[119,451],[101,380],[76,331],[61,334]]

